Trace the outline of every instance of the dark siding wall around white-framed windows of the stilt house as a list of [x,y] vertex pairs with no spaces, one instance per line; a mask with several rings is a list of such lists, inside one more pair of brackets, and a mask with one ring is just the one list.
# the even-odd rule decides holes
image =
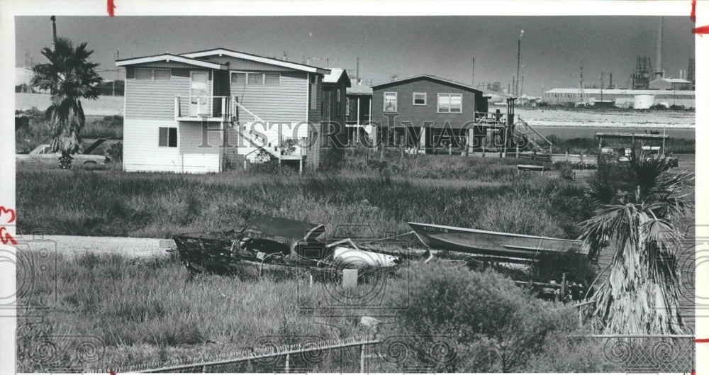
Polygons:
[[[425,121],[431,121],[433,126],[441,128],[445,122],[452,128],[462,127],[464,123],[474,120],[475,97],[474,91],[447,86],[428,79],[414,82],[404,82],[396,86],[376,88],[372,96],[372,121],[379,121],[382,125],[389,124],[389,118],[384,116],[384,92],[396,92],[398,116],[393,121],[394,126],[401,126],[401,121],[411,121],[414,126],[422,126]],[[426,105],[414,106],[413,93],[425,92]],[[463,94],[462,113],[437,113],[438,94]],[[477,94],[481,95],[481,94]],[[393,114],[393,113],[386,113]]]

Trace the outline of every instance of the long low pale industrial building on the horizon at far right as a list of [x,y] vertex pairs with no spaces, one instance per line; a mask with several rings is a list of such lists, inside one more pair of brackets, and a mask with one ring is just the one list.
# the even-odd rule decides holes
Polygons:
[[654,96],[655,104],[695,108],[694,91],[691,90],[584,89],[582,99],[581,89],[551,89],[544,93],[544,101],[549,104],[584,102],[593,105],[596,101],[613,100],[616,107],[631,108],[638,95]]

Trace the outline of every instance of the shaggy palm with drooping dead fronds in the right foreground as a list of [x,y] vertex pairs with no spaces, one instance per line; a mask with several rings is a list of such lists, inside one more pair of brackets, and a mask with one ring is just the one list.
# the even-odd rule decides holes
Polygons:
[[676,334],[680,274],[676,252],[683,235],[677,220],[691,209],[681,195],[692,177],[670,173],[664,159],[638,155],[627,164],[600,164],[591,187],[598,203],[581,240],[598,257],[603,242],[615,245],[610,274],[593,296],[606,334]]

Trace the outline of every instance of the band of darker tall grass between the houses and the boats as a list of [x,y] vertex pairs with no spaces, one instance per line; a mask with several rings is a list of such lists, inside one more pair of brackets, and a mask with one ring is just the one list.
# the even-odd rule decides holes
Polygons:
[[481,183],[354,173],[275,177],[240,172],[18,172],[18,228],[26,233],[171,237],[240,228],[250,218],[267,214],[327,223],[330,233],[339,224],[369,224],[374,235],[382,237],[408,232],[408,221],[576,235],[574,224],[587,214],[579,197],[582,185],[518,177],[505,164],[491,164],[489,173],[497,174],[498,169],[510,180]]

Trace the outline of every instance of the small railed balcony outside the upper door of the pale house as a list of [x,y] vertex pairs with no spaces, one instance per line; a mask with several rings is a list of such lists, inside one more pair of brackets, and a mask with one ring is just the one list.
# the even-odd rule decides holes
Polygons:
[[175,96],[175,121],[231,121],[229,96]]

